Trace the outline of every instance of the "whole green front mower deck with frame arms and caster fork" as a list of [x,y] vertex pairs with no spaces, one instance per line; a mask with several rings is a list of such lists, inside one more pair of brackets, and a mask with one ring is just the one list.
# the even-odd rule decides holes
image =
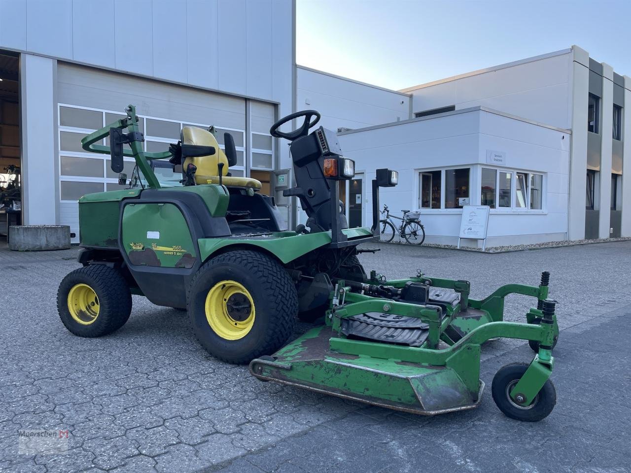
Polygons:
[[[422,274],[398,281],[381,279],[380,286],[363,284],[365,293],[357,292],[357,284],[338,281],[326,325],[309,330],[273,356],[254,359],[250,371],[264,381],[433,416],[480,404],[483,343],[495,337],[527,339],[542,342],[539,353],[519,368],[524,371],[521,381],[510,380],[513,384],[503,395],[510,392],[510,399],[515,396],[529,406],[550,377],[553,358],[548,347],[556,320],[551,310],[531,308],[526,315],[529,323],[504,322],[504,298],[511,293],[534,296],[541,306],[548,295],[546,274],[539,287],[510,284],[483,300],[469,299],[466,281]],[[420,281],[425,286],[418,286]],[[396,288],[409,291],[396,292],[398,299],[374,296],[394,293]],[[423,293],[424,300],[403,297]],[[544,314],[545,324],[533,323],[534,317]],[[493,391],[495,398],[495,382]],[[528,412],[529,407],[517,409],[517,414],[507,415],[524,420],[543,415]]]

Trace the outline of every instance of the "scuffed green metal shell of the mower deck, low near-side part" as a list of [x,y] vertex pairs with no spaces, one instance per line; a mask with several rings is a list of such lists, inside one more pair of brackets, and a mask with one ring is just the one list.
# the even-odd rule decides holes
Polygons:
[[471,395],[451,368],[339,353],[329,346],[332,336],[331,327],[309,330],[273,357],[255,359],[250,369],[260,380],[425,416],[480,404],[481,380]]

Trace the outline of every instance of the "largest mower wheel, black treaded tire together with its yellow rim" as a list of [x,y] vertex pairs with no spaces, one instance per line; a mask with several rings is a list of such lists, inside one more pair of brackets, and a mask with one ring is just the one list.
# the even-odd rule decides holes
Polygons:
[[188,290],[195,336],[215,358],[249,363],[285,344],[293,332],[298,296],[283,266],[250,250],[206,262]]

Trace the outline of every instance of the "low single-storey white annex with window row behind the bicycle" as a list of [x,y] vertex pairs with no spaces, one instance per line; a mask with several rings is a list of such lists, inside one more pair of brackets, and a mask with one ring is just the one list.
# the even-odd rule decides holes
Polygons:
[[[455,244],[459,232],[461,209],[445,175],[463,170],[467,175],[464,197],[469,204],[480,205],[483,169],[495,172],[493,199],[505,207],[491,210],[487,245],[510,245],[564,240],[567,237],[567,209],[570,134],[562,129],[543,127],[528,120],[502,114],[484,107],[448,112],[435,118],[411,119],[399,124],[343,132],[339,136],[345,155],[353,158],[357,170],[365,170],[364,225],[370,225],[372,192],[367,185],[379,167],[396,168],[399,185],[382,189],[380,203],[391,213],[400,209],[420,209],[430,243]],[[488,153],[502,153],[504,161],[490,164]],[[404,156],[404,159],[401,159]],[[425,208],[420,201],[420,186],[425,173],[439,175],[439,201]],[[499,196],[500,173],[509,173],[509,189]],[[539,176],[543,195],[531,202],[531,209],[520,207],[517,174]],[[529,184],[529,177],[526,178]],[[436,180],[433,187],[436,187]],[[528,194],[528,193],[526,193]],[[528,204],[526,197],[526,204]],[[508,199],[508,201],[506,200]],[[465,241],[465,245],[476,242]]]

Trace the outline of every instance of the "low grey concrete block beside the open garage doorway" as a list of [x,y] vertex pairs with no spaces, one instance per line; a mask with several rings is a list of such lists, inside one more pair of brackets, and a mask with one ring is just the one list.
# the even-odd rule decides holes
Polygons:
[[13,251],[67,250],[68,225],[16,225],[9,227],[9,249]]

